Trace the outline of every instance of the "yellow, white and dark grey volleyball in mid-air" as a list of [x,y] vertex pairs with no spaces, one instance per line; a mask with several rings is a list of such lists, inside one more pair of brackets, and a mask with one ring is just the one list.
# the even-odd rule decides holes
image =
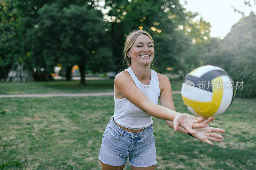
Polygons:
[[201,66],[186,75],[181,96],[193,114],[217,116],[225,112],[234,99],[234,81],[220,67]]

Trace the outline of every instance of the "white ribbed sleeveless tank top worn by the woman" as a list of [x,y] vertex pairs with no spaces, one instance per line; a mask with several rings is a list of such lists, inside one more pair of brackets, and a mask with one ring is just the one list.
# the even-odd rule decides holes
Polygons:
[[[136,75],[133,73],[132,68],[129,67],[125,69],[129,72],[136,86],[155,104],[158,104],[158,99],[160,96],[159,82],[157,74],[154,70],[151,70],[151,79],[149,85],[142,84]],[[115,113],[114,119],[117,124],[128,128],[128,129],[144,129],[149,127],[152,123],[152,116],[140,110],[134,104],[132,104],[126,98],[115,100]]]

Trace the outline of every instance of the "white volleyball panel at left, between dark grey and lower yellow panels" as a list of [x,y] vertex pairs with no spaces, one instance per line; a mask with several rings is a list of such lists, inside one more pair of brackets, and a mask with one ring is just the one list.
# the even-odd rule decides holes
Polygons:
[[[188,89],[188,88],[187,88]],[[181,86],[181,94],[182,96],[198,101],[198,102],[211,102],[212,101],[212,92],[203,90],[203,89],[197,89],[196,87],[191,87],[189,90],[186,89],[186,84],[182,83]]]

